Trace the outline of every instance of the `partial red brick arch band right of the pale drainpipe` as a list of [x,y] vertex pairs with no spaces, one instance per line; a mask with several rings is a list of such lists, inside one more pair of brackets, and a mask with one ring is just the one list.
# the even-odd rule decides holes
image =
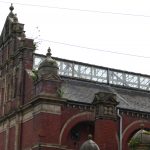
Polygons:
[[150,129],[150,122],[147,120],[137,120],[129,124],[125,130],[123,131],[122,145],[123,150],[128,150],[128,141],[136,133],[141,129],[141,124],[144,124],[144,128]]

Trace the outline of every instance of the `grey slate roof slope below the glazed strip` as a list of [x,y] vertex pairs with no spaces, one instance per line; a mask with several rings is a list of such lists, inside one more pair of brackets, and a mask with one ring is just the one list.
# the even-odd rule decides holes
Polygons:
[[98,92],[111,92],[117,95],[118,107],[150,112],[150,92],[136,89],[114,87],[107,84],[92,83],[84,80],[62,78],[63,98],[83,103],[92,103]]

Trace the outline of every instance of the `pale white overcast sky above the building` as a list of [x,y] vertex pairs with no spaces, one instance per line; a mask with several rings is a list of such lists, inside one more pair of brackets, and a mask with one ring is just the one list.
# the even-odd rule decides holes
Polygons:
[[149,0],[0,0],[0,31],[10,3],[37,53],[150,75]]

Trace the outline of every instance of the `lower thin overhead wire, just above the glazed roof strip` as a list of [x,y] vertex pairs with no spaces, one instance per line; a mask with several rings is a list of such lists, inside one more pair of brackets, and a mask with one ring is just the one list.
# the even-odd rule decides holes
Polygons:
[[131,57],[150,59],[150,56],[134,55],[134,54],[129,54],[129,53],[122,53],[122,52],[117,52],[117,51],[111,51],[111,50],[105,50],[105,49],[99,49],[99,48],[80,46],[80,45],[69,44],[69,43],[58,42],[58,41],[52,41],[52,40],[46,40],[46,39],[38,39],[38,40],[39,41],[46,41],[46,42],[50,42],[50,43],[55,43],[55,44],[71,46],[71,47],[82,48],[82,49],[88,49],[88,50],[93,50],[93,51],[99,51],[99,52],[106,52],[106,53],[112,53],[112,54],[118,54],[118,55],[125,55],[125,56],[131,56]]

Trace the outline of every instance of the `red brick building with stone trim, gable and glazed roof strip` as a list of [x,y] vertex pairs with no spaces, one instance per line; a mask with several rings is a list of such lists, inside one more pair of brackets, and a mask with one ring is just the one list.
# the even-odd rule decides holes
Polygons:
[[[0,36],[0,150],[129,150],[150,130],[150,76],[35,54],[13,6]],[[42,61],[41,61],[42,60]]]

